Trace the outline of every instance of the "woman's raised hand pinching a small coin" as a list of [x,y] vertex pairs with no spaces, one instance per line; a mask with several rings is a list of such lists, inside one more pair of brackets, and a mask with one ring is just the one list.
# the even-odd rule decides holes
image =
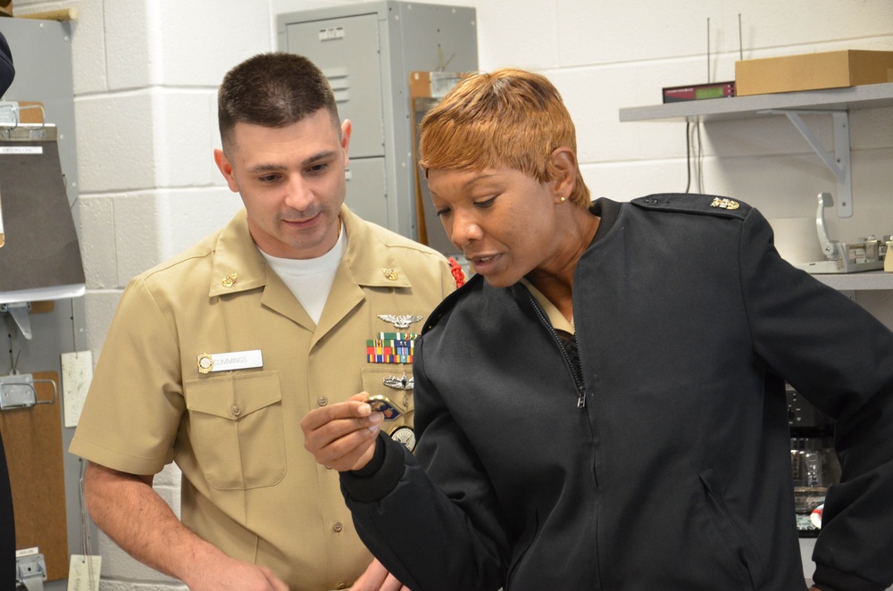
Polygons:
[[326,468],[359,470],[375,453],[375,438],[384,415],[372,412],[365,392],[345,403],[308,412],[301,421],[305,449]]

